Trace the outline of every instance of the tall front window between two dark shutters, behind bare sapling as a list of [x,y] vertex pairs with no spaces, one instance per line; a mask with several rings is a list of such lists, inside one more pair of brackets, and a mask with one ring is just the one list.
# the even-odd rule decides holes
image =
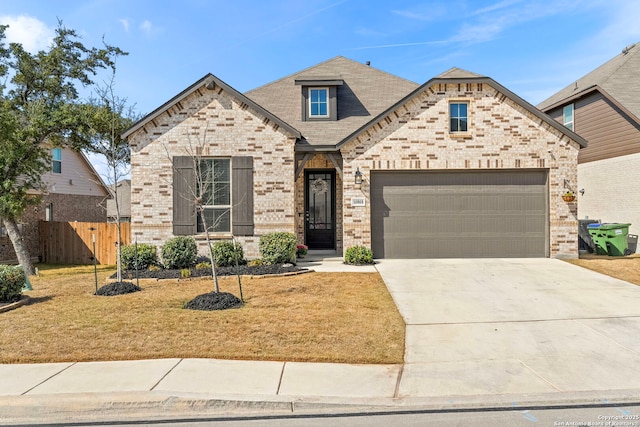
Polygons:
[[198,194],[202,198],[202,214],[198,212],[197,232],[206,228],[213,233],[231,231],[231,160],[203,159],[200,161]]

